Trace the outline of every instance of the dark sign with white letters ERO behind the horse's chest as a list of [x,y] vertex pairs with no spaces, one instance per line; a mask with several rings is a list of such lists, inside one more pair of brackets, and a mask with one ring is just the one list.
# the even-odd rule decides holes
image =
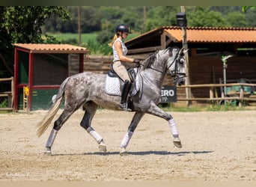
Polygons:
[[160,103],[177,102],[176,86],[162,86]]

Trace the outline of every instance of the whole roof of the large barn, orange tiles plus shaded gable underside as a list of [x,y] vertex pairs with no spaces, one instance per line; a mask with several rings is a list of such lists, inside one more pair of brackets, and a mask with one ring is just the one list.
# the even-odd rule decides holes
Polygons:
[[[165,35],[165,37],[163,37]],[[165,39],[167,38],[167,39]],[[183,31],[177,26],[162,26],[127,40],[130,49],[159,49],[163,40],[168,43],[183,42]],[[187,27],[186,40],[189,48],[236,45],[236,47],[254,47],[256,43],[256,28],[222,28],[222,27]]]

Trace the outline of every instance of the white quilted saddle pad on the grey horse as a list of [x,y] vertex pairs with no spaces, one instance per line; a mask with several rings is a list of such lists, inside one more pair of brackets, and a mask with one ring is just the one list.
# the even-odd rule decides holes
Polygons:
[[[135,87],[132,89],[131,96],[134,96],[138,91],[140,87],[140,84],[138,82],[138,69],[135,68]],[[109,75],[106,76],[106,82],[105,82],[105,91],[109,95],[113,96],[121,96],[121,84],[119,82],[118,77],[110,77]]]

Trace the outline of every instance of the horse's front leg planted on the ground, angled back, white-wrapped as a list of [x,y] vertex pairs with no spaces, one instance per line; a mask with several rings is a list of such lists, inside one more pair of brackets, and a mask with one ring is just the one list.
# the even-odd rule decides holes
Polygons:
[[138,122],[141,120],[141,118],[144,116],[144,112],[135,112],[135,114],[132,117],[132,122],[129,124],[128,130],[126,134],[124,135],[123,141],[121,141],[121,156],[128,155],[128,152],[126,150],[127,145],[129,144],[130,139],[132,138],[133,132],[135,131]]

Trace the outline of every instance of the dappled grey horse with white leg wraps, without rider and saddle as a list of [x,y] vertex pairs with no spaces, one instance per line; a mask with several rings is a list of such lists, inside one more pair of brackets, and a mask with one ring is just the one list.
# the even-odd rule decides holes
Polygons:
[[[185,84],[186,62],[185,53],[187,51],[177,47],[162,49],[154,52],[137,68],[138,82],[141,85],[138,92],[130,95],[135,114],[129,124],[128,130],[121,141],[120,155],[127,154],[126,147],[129,144],[132,134],[135,131],[138,122],[144,114],[153,114],[168,121],[172,135],[173,143],[176,147],[182,147],[177,131],[177,126],[171,114],[162,111],[157,105],[161,99],[161,88],[165,74],[170,73],[174,84]],[[55,120],[52,131],[46,142],[46,153],[51,154],[52,144],[56,138],[57,132],[74,111],[83,107],[85,109],[84,117],[80,125],[97,141],[99,149],[106,152],[101,135],[91,126],[91,120],[100,105],[103,108],[120,110],[119,104],[121,96],[109,95],[105,91],[106,74],[99,73],[79,73],[68,77],[62,82],[55,102],[52,104],[46,116],[37,124],[37,136],[46,131],[53,117],[61,106],[64,99],[64,110]]]

